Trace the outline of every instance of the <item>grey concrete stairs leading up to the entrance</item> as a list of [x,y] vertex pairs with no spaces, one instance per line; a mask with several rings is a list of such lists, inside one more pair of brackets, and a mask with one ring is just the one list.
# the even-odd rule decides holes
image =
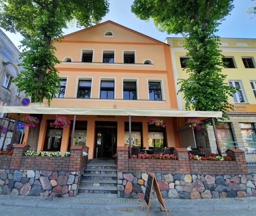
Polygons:
[[117,198],[116,165],[87,164],[77,197]]

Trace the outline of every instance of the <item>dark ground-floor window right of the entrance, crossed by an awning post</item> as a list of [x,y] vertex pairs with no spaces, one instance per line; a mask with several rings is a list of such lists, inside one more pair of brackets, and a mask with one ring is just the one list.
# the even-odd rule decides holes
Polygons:
[[[132,122],[132,147],[142,148],[142,123]],[[124,123],[124,146],[129,146],[129,122]]]

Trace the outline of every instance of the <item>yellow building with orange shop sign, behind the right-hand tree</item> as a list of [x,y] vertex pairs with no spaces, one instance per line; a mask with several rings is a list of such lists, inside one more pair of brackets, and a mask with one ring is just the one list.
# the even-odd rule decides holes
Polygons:
[[[186,79],[183,63],[186,50],[183,47],[183,38],[168,37],[165,41],[170,45],[173,65],[175,89],[179,90],[177,79]],[[229,112],[228,124],[218,126],[218,140],[222,150],[226,145],[249,146],[256,145],[256,39],[221,38],[220,49],[225,56],[223,61],[228,62],[227,68],[222,73],[227,75],[226,82],[230,86],[239,88],[233,97],[228,97],[228,102],[234,105],[234,111]],[[177,95],[178,109],[185,109],[183,94]],[[216,149],[212,128],[208,128],[208,145],[214,152]]]

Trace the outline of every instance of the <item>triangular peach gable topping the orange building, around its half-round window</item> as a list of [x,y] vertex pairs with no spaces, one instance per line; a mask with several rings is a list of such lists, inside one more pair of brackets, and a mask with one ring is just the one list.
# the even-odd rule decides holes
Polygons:
[[[104,37],[104,33],[111,31],[113,37]],[[160,43],[153,38],[123,27],[117,23],[107,21],[87,29],[64,36],[63,41],[97,41],[97,42],[131,42],[131,43]]]

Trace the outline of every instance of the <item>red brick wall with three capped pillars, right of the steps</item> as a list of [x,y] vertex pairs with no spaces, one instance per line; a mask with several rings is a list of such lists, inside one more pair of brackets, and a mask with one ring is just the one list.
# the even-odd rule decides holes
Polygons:
[[176,148],[178,160],[128,159],[128,147],[118,147],[118,172],[153,172],[179,174],[248,174],[243,150],[228,150],[233,161],[196,161],[188,159],[185,148]]

